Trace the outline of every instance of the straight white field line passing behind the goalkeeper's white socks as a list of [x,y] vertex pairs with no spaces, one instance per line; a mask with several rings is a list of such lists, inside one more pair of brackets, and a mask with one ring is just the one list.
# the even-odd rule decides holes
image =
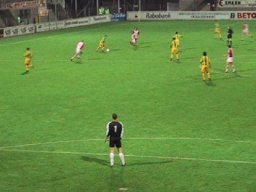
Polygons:
[[[68,151],[47,151],[47,150],[17,150],[17,149],[0,149],[0,151],[14,151],[14,152],[35,152],[45,154],[78,154],[78,155],[92,155],[92,156],[109,156],[109,154],[97,154],[86,152],[68,152]],[[243,164],[256,164],[253,161],[230,161],[230,160],[218,160],[218,159],[198,159],[188,157],[165,157],[165,156],[136,156],[126,155],[125,157],[141,157],[141,158],[157,158],[157,159],[172,159],[172,160],[188,160],[188,161],[209,161],[209,162],[223,162],[223,163],[243,163]]]

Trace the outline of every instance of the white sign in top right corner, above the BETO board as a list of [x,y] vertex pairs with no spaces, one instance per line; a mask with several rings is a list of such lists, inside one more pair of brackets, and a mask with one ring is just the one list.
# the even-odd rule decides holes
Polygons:
[[219,8],[252,8],[256,6],[255,0],[219,0]]

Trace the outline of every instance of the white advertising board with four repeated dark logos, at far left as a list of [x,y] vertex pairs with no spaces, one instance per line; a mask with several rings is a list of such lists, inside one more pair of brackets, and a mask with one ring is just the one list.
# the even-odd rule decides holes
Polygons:
[[10,28],[4,28],[4,37],[16,36],[16,35],[26,35],[30,33],[35,33],[35,24],[29,24],[27,26],[15,26]]

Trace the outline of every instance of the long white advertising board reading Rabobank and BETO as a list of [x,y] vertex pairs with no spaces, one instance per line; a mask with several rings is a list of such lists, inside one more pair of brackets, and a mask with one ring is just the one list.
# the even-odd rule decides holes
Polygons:
[[127,12],[127,20],[256,20],[255,12]]

